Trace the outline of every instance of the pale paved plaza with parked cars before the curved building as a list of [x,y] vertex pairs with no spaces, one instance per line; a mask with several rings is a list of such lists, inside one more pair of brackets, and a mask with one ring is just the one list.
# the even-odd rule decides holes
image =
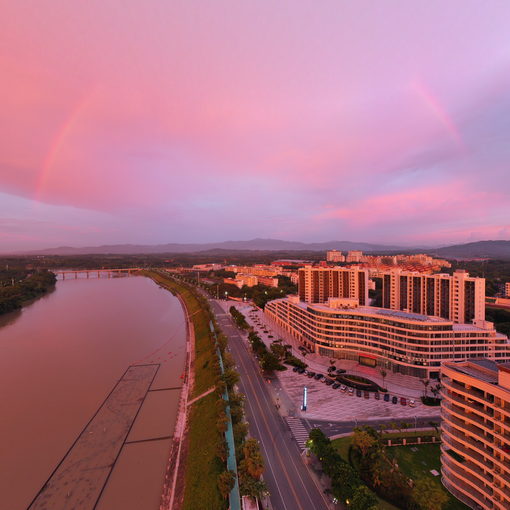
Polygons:
[[[309,369],[314,372],[327,373],[329,358],[318,354],[307,354],[303,356],[299,351],[298,342],[286,331],[271,321],[261,310],[255,310],[252,305],[245,303],[236,303],[233,301],[220,301],[223,309],[228,312],[234,305],[242,312],[250,326],[253,326],[261,339],[270,345],[272,341],[282,338],[286,343],[292,345],[292,354],[308,364]],[[267,331],[265,333],[264,331]],[[273,338],[269,338],[272,336]],[[344,368],[350,374],[361,375],[371,379],[379,385],[383,385],[382,377],[379,371],[374,368],[359,365],[354,360],[335,360],[337,368]],[[439,414],[438,407],[424,406],[420,401],[423,394],[423,385],[415,377],[401,374],[393,374],[388,371],[384,386],[388,388],[391,396],[399,397],[397,404],[385,402],[382,399],[376,400],[373,393],[370,398],[357,397],[355,394],[349,396],[339,389],[332,389],[331,386],[310,379],[303,374],[293,372],[292,369],[279,372],[277,374],[279,384],[275,385],[275,391],[278,387],[278,402],[281,404],[283,414],[293,414],[302,418],[331,420],[331,421],[366,421],[366,420],[406,420],[412,423],[415,418],[430,417],[437,420]],[[300,411],[303,398],[304,386],[308,389],[308,408],[306,412]],[[281,389],[280,389],[281,388]],[[282,394],[283,392],[285,393]],[[400,404],[400,397],[414,399],[416,407]],[[276,398],[276,397],[275,397]]]

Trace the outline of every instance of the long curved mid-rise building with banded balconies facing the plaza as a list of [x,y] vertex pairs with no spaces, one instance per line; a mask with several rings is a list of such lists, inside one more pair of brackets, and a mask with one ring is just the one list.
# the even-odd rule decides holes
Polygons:
[[320,355],[415,377],[437,378],[446,360],[510,360],[508,338],[491,323],[454,324],[438,317],[358,306],[356,299],[309,304],[290,297],[270,301],[265,313]]

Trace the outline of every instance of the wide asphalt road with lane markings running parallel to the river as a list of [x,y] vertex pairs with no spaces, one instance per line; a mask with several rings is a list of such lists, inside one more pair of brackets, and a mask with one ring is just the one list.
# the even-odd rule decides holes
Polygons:
[[230,315],[214,301],[211,307],[241,375],[239,387],[246,395],[245,411],[250,434],[257,438],[265,460],[264,480],[273,510],[325,510],[326,495],[305,466],[289,428],[275,408],[267,382],[248,351]]

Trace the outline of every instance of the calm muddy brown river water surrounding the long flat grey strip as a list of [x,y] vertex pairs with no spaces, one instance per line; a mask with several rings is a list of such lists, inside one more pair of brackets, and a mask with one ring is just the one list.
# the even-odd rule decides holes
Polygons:
[[178,299],[144,277],[59,281],[0,317],[0,508],[25,510],[126,369],[154,364],[97,508],[156,510],[185,351]]

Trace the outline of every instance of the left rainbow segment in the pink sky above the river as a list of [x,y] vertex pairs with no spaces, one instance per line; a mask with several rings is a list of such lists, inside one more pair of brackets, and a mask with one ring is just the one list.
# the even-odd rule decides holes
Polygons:
[[71,109],[69,115],[66,117],[56,135],[53,137],[36,181],[34,196],[36,201],[41,199],[44,190],[46,189],[47,182],[55,169],[55,162],[58,159],[59,153],[65,146],[66,140],[78,124],[81,116],[94,100],[96,91],[97,89],[92,89],[91,91],[87,91],[87,93],[81,97],[81,99]]

